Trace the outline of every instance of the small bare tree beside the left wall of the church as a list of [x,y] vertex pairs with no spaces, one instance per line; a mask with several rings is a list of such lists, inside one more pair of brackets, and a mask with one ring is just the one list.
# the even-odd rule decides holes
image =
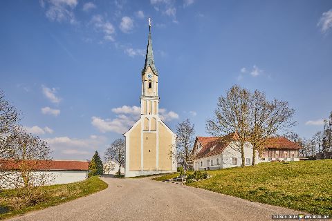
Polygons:
[[124,167],[124,140],[122,138],[115,140],[109,148],[107,148],[104,157],[108,162],[112,160],[119,164],[119,175],[121,174],[121,166]]

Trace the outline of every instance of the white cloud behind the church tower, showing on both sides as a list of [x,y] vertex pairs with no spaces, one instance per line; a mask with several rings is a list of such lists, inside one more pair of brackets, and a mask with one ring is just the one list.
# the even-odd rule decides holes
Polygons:
[[[116,113],[114,119],[102,119],[101,117],[91,117],[91,124],[98,128],[101,133],[115,132],[125,133],[136,123],[140,118],[140,107],[138,106],[122,106],[112,109],[113,113]],[[165,108],[159,108],[159,117],[163,121],[171,121],[172,119],[178,119],[178,114],[174,111],[166,111]]]

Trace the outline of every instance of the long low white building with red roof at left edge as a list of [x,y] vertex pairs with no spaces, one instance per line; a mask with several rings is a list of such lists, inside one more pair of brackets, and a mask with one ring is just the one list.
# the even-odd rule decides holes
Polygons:
[[13,180],[20,176],[21,166],[30,166],[36,177],[49,177],[46,184],[66,184],[85,180],[88,177],[88,161],[72,160],[34,160],[22,163],[16,160],[0,160],[0,172],[11,173],[10,180],[0,180],[0,189],[15,188]]

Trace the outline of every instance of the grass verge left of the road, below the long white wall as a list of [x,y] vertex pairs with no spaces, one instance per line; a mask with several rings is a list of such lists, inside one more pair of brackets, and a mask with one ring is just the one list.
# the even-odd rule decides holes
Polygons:
[[0,220],[74,200],[102,191],[107,186],[108,184],[100,180],[98,176],[71,184],[42,186],[39,187],[39,190],[44,193],[41,197],[42,200],[34,205],[26,205],[24,200],[21,200],[19,189],[3,190],[0,192]]

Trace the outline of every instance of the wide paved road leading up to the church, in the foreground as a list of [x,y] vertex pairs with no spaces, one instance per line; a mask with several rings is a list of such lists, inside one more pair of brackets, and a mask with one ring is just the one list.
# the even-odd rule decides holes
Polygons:
[[103,177],[104,191],[12,220],[271,220],[298,214],[179,184]]

